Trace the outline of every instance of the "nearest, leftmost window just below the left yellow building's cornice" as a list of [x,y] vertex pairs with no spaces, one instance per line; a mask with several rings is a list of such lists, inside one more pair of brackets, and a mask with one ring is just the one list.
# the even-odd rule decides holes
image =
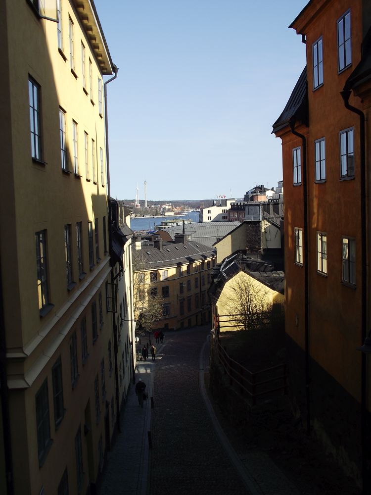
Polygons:
[[35,400],[39,464],[42,465],[46,457],[47,448],[51,444],[47,379],[36,394]]

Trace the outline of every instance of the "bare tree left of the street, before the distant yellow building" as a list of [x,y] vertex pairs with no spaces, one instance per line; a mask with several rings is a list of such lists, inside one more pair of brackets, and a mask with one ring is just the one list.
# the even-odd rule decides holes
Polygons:
[[[163,297],[158,294],[154,274],[150,270],[142,250],[133,252],[134,317],[139,322],[139,332],[150,331],[162,317]],[[157,277],[156,277],[157,278]]]

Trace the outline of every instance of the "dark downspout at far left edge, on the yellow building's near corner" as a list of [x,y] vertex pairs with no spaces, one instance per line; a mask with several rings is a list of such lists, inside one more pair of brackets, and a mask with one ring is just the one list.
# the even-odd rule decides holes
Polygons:
[[1,283],[1,263],[0,263],[0,394],[1,394],[1,412],[2,412],[2,431],[4,436],[6,493],[7,495],[13,495],[14,494],[13,463],[12,463],[11,436],[10,436],[9,396],[8,396],[8,384],[7,384],[7,375],[6,375],[6,343],[5,343],[4,305],[3,305],[2,283]]

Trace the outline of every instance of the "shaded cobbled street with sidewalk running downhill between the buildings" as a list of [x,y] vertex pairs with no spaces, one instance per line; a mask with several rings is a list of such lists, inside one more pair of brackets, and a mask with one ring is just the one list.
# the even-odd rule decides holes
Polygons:
[[99,495],[300,495],[265,452],[237,453],[224,433],[205,387],[209,330],[168,332],[155,362],[137,364],[149,399],[141,409],[130,387]]

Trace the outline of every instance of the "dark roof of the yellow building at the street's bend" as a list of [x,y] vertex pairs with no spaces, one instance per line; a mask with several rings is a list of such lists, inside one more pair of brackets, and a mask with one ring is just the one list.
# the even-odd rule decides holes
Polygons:
[[[138,252],[138,251],[135,251]],[[161,266],[178,266],[216,256],[216,250],[194,241],[183,243],[163,242],[162,250],[154,247],[153,241],[141,244],[141,254],[144,267],[158,268]]]

